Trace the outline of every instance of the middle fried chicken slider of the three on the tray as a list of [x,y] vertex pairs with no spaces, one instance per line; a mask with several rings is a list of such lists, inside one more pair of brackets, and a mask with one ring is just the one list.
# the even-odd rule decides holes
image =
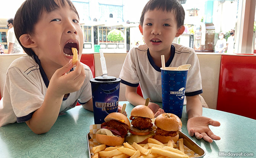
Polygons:
[[145,105],[137,105],[131,110],[131,129],[130,135],[126,137],[126,141],[133,143],[147,143],[148,138],[152,138],[154,132],[152,131],[152,120],[154,113],[149,107]]

